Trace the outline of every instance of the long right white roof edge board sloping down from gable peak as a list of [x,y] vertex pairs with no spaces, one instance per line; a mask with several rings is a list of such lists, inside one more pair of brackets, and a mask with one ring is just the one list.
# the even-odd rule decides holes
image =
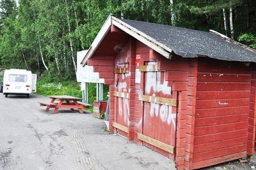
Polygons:
[[147,34],[139,31],[138,29],[135,29],[129,24],[126,24],[125,22],[122,22],[122,20],[119,20],[118,18],[112,17],[112,24],[118,27],[119,29],[122,29],[127,34],[133,36],[134,38],[138,39],[145,45],[149,46],[156,52],[160,53],[167,59],[172,58],[172,50],[168,48],[167,46],[159,43],[153,38],[150,38],[150,36],[147,36]]

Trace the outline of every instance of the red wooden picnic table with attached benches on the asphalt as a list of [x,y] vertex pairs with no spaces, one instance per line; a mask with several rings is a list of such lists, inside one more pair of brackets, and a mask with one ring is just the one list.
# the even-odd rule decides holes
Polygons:
[[66,108],[70,110],[78,110],[79,113],[83,113],[84,108],[89,108],[92,106],[91,104],[87,103],[81,103],[79,102],[80,98],[73,97],[73,96],[48,96],[50,97],[51,101],[50,103],[42,103],[38,102],[40,106],[46,106],[45,111],[49,111],[50,108],[53,108],[54,110],[52,113],[57,113],[59,109]]

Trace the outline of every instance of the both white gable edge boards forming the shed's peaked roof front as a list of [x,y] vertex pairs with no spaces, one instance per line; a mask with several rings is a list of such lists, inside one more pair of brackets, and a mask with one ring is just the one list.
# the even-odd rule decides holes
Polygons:
[[87,60],[92,57],[93,53],[95,52],[95,50],[97,50],[98,46],[100,45],[100,43],[102,42],[102,40],[104,39],[106,34],[108,34],[109,30],[111,29],[111,25],[115,25],[122,31],[124,31],[127,34],[129,34],[130,36],[138,39],[139,41],[141,41],[145,45],[149,46],[156,52],[160,53],[167,59],[172,58],[172,53],[173,53],[172,49],[168,48],[167,46],[163,45],[162,43],[159,43],[158,41],[156,41],[156,39],[153,39],[150,36],[147,36],[147,34],[139,31],[138,29],[135,29],[131,25],[126,24],[122,20],[119,20],[118,18],[113,17],[112,15],[109,15],[108,19],[105,21],[104,25],[100,29],[96,38],[93,40],[92,45],[88,49],[88,53],[86,53],[84,59],[82,60],[81,64],[83,66],[86,65]]

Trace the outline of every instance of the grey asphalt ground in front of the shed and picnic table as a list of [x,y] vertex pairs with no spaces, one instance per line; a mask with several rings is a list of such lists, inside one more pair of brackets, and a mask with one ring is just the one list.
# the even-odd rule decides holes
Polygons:
[[0,169],[175,169],[172,160],[102,131],[89,113],[51,114],[47,97],[0,94]]

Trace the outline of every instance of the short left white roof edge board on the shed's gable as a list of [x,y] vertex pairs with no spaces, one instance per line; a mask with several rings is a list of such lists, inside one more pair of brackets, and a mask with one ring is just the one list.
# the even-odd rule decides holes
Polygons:
[[105,38],[106,34],[108,34],[109,29],[111,28],[112,25],[112,15],[109,15],[107,20],[104,22],[103,26],[101,27],[100,31],[98,32],[97,36],[92,42],[92,45],[88,49],[88,52],[84,56],[84,59],[82,60],[81,64],[83,66],[86,65],[86,62],[88,59],[90,59],[95,52],[95,50],[98,48],[100,45],[101,41]]

